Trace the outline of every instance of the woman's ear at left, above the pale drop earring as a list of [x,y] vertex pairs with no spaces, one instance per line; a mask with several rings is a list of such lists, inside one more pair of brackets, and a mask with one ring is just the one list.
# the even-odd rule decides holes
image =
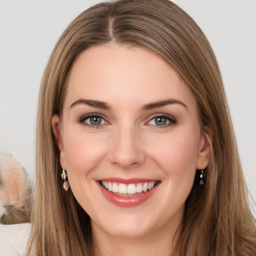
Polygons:
[[60,160],[61,167],[64,170],[66,170],[65,151],[63,147],[60,124],[61,122],[60,122],[59,116],[57,114],[54,114],[51,118],[51,126],[53,130],[53,134],[55,136],[57,147],[59,149],[59,160]]

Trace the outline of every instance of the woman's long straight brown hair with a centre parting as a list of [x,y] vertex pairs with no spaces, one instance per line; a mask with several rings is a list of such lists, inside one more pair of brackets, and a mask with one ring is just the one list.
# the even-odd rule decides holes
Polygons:
[[[206,184],[186,200],[177,251],[185,255],[254,255],[255,219],[237,152],[214,53],[193,19],[168,0],[96,4],[77,16],[57,41],[40,87],[36,129],[36,183],[30,250],[36,255],[92,255],[90,219],[65,192],[51,128],[61,115],[68,72],[76,56],[96,44],[129,44],[169,63],[192,91],[201,123],[211,135]],[[30,245],[31,245],[30,244]]]

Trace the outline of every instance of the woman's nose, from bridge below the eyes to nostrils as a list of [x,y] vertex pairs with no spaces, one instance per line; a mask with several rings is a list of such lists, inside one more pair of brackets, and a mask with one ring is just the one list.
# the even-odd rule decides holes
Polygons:
[[145,153],[135,127],[124,127],[116,130],[109,160],[123,169],[138,166],[145,161]]

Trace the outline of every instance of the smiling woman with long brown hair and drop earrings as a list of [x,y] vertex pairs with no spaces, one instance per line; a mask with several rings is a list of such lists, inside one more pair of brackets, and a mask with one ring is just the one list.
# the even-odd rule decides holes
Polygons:
[[195,22],[167,0],[75,18],[40,88],[28,254],[254,255],[246,196]]

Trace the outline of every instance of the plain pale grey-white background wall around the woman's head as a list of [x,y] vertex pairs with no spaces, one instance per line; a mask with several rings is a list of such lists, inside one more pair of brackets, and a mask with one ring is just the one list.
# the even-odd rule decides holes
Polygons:
[[[0,0],[0,151],[12,153],[31,178],[43,69],[68,23],[96,2]],[[256,1],[174,2],[199,24],[217,56],[245,178],[256,199]]]

